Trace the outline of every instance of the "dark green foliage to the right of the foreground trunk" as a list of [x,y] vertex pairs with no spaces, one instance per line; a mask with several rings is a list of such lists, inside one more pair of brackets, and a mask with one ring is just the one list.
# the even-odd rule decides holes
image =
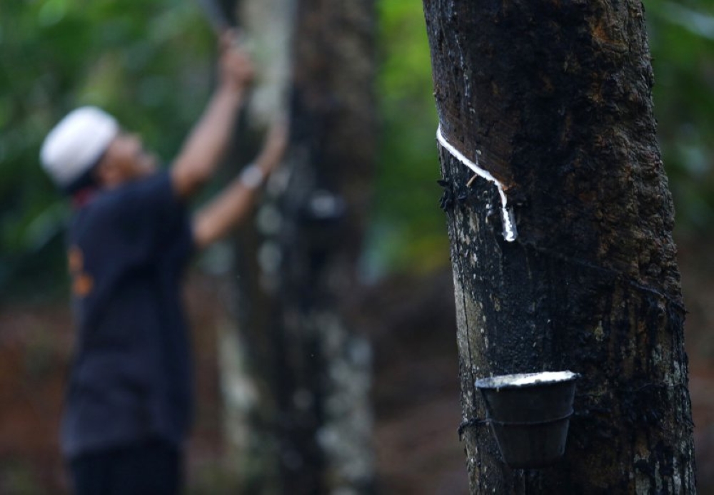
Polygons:
[[714,4],[647,3],[655,114],[678,229],[705,233],[714,220]]

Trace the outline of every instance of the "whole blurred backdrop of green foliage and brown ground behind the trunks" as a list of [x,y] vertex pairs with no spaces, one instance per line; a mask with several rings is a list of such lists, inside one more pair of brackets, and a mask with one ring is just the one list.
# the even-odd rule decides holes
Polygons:
[[[714,493],[714,4],[645,2],[660,146],[677,212],[700,493]],[[379,147],[363,248],[384,493],[466,493],[456,323],[421,2],[377,1]],[[215,36],[195,1],[0,0],[0,494],[61,494],[57,428],[72,346],[66,201],[39,146],[80,104],[114,113],[171,158],[215,81]],[[204,260],[205,261],[205,260]],[[221,282],[198,260],[198,424],[191,493],[231,493],[212,329]],[[199,331],[200,330],[200,331]]]

